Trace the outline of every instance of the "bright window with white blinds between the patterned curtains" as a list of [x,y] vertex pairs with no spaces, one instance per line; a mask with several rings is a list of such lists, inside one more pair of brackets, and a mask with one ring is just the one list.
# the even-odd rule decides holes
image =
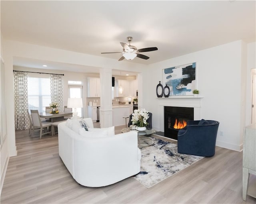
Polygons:
[[28,77],[28,109],[45,112],[50,103],[50,78]]

